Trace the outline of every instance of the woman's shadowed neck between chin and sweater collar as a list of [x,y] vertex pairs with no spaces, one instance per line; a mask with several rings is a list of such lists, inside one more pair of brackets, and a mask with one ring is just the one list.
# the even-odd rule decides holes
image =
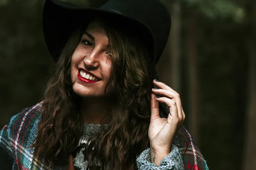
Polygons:
[[107,124],[110,102],[107,99],[83,98],[80,113],[84,123]]

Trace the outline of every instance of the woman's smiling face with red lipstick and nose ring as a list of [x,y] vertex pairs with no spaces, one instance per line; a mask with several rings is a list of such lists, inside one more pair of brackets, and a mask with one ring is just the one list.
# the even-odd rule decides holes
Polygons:
[[97,21],[91,22],[71,58],[73,91],[81,97],[105,96],[111,57],[104,28]]

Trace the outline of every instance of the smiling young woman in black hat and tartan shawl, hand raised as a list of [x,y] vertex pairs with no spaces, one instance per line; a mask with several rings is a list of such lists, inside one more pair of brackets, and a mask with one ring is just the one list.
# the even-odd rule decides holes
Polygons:
[[46,0],[43,25],[54,71],[43,101],[1,130],[0,166],[208,169],[182,126],[179,94],[154,79],[171,25],[160,1],[86,8]]

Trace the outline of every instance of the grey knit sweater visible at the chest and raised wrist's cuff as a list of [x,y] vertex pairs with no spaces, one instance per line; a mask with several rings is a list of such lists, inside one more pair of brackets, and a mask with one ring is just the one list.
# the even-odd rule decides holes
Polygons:
[[[89,136],[97,133],[101,126],[96,124],[84,124],[83,135],[80,138],[79,146],[83,146],[89,138]],[[73,162],[76,170],[86,170],[87,161],[84,161],[84,147],[79,147],[76,154],[73,156]],[[160,166],[150,162],[150,148],[144,150],[136,160],[138,170],[183,170],[183,161],[180,154],[180,150],[177,146],[172,145],[172,151],[166,156],[160,163]],[[101,167],[100,161],[94,160],[97,166]]]

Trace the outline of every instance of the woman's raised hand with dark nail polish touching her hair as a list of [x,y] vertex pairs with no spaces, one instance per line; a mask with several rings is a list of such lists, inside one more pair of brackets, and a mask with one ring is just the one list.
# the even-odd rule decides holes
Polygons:
[[[148,129],[148,138],[151,147],[151,162],[160,164],[160,161],[171,151],[172,142],[176,132],[185,119],[180,95],[168,85],[157,80],[153,81],[157,88],[151,94],[151,119]],[[155,94],[163,97],[156,98]],[[167,119],[159,116],[159,103],[163,102],[169,107]]]

